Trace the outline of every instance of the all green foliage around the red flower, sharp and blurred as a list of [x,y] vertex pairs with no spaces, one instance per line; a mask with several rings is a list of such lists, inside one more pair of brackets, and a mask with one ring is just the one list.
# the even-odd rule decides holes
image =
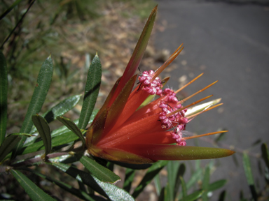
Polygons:
[[[25,2],[26,1],[23,3]],[[39,3],[41,3],[39,5],[42,5],[44,2],[45,1],[39,1]],[[139,4],[142,3],[142,1],[130,2],[136,8],[142,6],[142,4]],[[6,6],[2,12],[3,14],[0,16],[0,21],[4,24],[5,29],[3,30],[5,33],[12,34],[14,31],[16,32],[19,30],[18,33],[16,32],[18,34],[16,36],[20,36],[21,33],[27,34],[30,32],[26,28],[22,29],[20,23],[18,23],[22,22],[22,20],[26,20],[25,15],[27,14],[25,11],[22,12],[23,6],[20,7],[20,3],[22,3],[22,1],[17,0],[12,5]],[[31,1],[30,3],[34,3],[34,1]],[[29,4],[23,5],[26,5],[25,9],[29,10]],[[83,10],[83,6],[90,9]],[[55,1],[55,3],[52,4],[52,7],[53,9],[56,9],[56,12],[51,12],[49,20],[48,18],[46,19],[46,23],[50,24],[50,26],[62,23],[61,25],[63,27],[64,20],[74,19],[74,17],[78,17],[81,22],[83,20],[93,19],[99,15],[95,11],[96,6],[94,1]],[[48,10],[49,9],[46,8],[43,10],[43,13],[48,12]],[[65,15],[61,14],[63,10],[67,11]],[[11,23],[11,19],[8,19],[8,16],[12,12],[16,15],[15,24]],[[142,17],[144,16],[143,12],[139,13]],[[148,14],[149,12],[146,11],[146,13]],[[130,15],[127,12],[125,14]],[[150,25],[152,26],[153,24]],[[46,27],[46,25],[42,20],[36,24],[37,29],[41,30],[44,29],[44,27]],[[8,36],[8,34],[6,34],[6,36]],[[191,172],[191,177],[187,180],[185,175],[186,165],[184,163],[179,163],[178,161],[158,161],[151,165],[142,181],[140,181],[135,189],[132,189],[132,187],[134,186],[135,174],[139,170],[136,170],[137,168],[135,168],[135,165],[130,165],[129,168],[125,170],[123,188],[119,188],[114,184],[120,181],[120,177],[111,171],[113,168],[110,168],[111,170],[107,168],[107,161],[99,161],[96,158],[90,158],[91,156],[83,156],[83,152],[85,151],[85,128],[92,122],[92,119],[98,111],[93,110],[99,94],[102,76],[102,66],[97,55],[92,59],[90,68],[88,69],[88,77],[85,84],[85,96],[83,98],[83,106],[79,119],[71,121],[66,117],[62,117],[78,104],[78,101],[81,98],[81,95],[79,94],[69,96],[63,101],[59,101],[57,105],[51,107],[46,112],[43,112],[43,114],[38,114],[41,111],[41,108],[44,107],[43,103],[46,100],[46,95],[48,94],[48,90],[51,87],[50,83],[53,79],[53,60],[49,56],[46,61],[43,62],[43,65],[39,70],[34,93],[31,102],[29,103],[20,133],[12,133],[6,136],[6,127],[8,121],[11,120],[7,118],[8,70],[11,72],[15,71],[18,74],[22,73],[24,76],[29,73],[23,73],[23,70],[21,70],[25,69],[26,65],[23,66],[24,64],[27,64],[25,61],[29,59],[31,54],[39,54],[40,48],[55,43],[57,34],[55,36],[52,36],[51,34],[53,34],[53,29],[42,32],[40,38],[30,37],[29,41],[22,42],[20,40],[21,38],[19,38],[16,45],[12,46],[12,44],[9,44],[11,45],[10,47],[12,47],[11,49],[13,49],[13,52],[8,52],[8,54],[6,54],[8,59],[6,59],[4,54],[0,52],[0,172],[11,172],[8,177],[13,176],[13,178],[18,181],[18,184],[25,189],[25,192],[32,200],[55,199],[48,193],[45,193],[45,189],[41,189],[45,188],[45,186],[41,185],[39,188],[39,184],[35,184],[35,182],[29,179],[29,174],[34,174],[36,177],[46,179],[46,181],[49,181],[51,184],[59,186],[62,191],[67,191],[81,200],[135,200],[153,179],[159,196],[158,200],[167,201],[210,200],[208,197],[209,193],[225,186],[227,183],[226,179],[220,179],[210,183],[210,174],[214,171],[212,165],[207,165],[205,168],[202,168],[198,161],[195,170]],[[146,36],[146,38],[147,37],[148,36]],[[3,37],[1,39],[3,39]],[[24,52],[24,49],[21,52],[18,49],[15,50],[19,47],[24,47],[28,52]],[[142,50],[137,51],[139,52]],[[12,60],[11,58],[15,59]],[[135,59],[139,60],[140,58]],[[8,66],[11,64],[9,69],[7,68],[6,60],[8,61]],[[60,71],[60,77],[68,80],[69,66],[64,64],[64,62],[61,63],[61,61],[55,61],[57,66],[55,71],[56,73],[59,73]],[[33,63],[36,64],[35,62],[36,61]],[[34,64],[31,64],[30,66]],[[10,75],[11,77],[15,77],[13,73]],[[35,81],[32,80],[32,82]],[[33,88],[34,87],[32,87],[32,89]],[[28,91],[32,91],[32,89]],[[52,126],[55,122],[57,124],[57,121],[55,121],[56,119],[61,121],[64,126],[59,128]],[[55,129],[50,131],[50,127]],[[215,142],[219,142],[220,140],[221,135]],[[81,142],[82,146],[79,147],[77,142]],[[265,168],[262,173],[265,177],[265,181],[269,184],[269,154],[266,144],[262,144],[261,153],[265,163]],[[35,157],[33,158],[33,156]],[[109,162],[109,164],[110,167],[113,167],[114,165],[113,161]],[[243,164],[252,199],[258,200],[258,198],[262,196],[262,193],[261,191],[258,191],[259,188],[256,187],[254,182],[254,175],[251,170],[252,164],[250,163],[249,155],[247,153],[243,156]],[[76,165],[80,166],[80,168],[83,166],[85,169],[81,170],[81,168],[79,170]],[[46,171],[40,171],[39,167],[46,167],[46,170],[61,172],[62,177],[68,177],[69,179],[72,179],[72,181],[76,181],[80,188],[76,188],[68,182],[62,181],[62,177],[59,179],[48,174]],[[148,168],[148,166],[146,166],[146,168]],[[160,179],[162,177],[160,171],[167,171],[167,184],[165,185],[161,182],[163,179]],[[133,193],[130,195],[130,192],[132,191]],[[98,195],[94,192],[98,193]],[[225,198],[226,191],[221,191],[219,200],[225,200]],[[243,195],[240,196],[240,199],[247,200]]]

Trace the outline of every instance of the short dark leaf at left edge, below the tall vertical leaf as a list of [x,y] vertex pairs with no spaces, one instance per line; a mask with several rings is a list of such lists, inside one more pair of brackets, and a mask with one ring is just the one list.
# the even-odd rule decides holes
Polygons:
[[11,152],[13,147],[20,142],[21,137],[18,135],[8,135],[5,139],[4,142],[1,144],[0,147],[0,162],[3,161],[3,159],[6,157],[8,153]]

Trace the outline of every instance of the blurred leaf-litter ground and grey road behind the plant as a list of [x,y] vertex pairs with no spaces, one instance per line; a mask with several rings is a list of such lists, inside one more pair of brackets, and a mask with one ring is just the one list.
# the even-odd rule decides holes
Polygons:
[[[14,2],[2,0],[1,13]],[[156,4],[158,18],[140,69],[158,68],[184,43],[183,52],[162,75],[171,76],[169,87],[178,89],[205,73],[180,96],[189,96],[219,80],[188,103],[210,94],[222,98],[224,103],[196,117],[187,130],[196,134],[229,131],[225,135],[202,137],[187,143],[237,151],[233,157],[213,162],[186,162],[184,179],[188,181],[195,165],[204,168],[212,163],[214,171],[210,181],[228,179],[228,183],[216,191],[211,200],[217,200],[223,189],[227,192],[226,200],[240,200],[243,194],[250,198],[242,166],[242,153],[247,153],[251,157],[257,191],[266,193],[268,183],[261,173],[264,165],[260,148],[262,142],[268,144],[269,141],[269,1],[265,0],[20,1],[0,21],[0,45],[8,62],[8,133],[20,131],[39,69],[49,54],[53,57],[55,73],[43,112],[68,96],[83,93],[90,59],[96,52],[103,68],[102,88],[96,105],[100,107],[113,83],[122,75],[146,18]],[[80,110],[78,104],[67,117],[77,119]],[[58,125],[50,126],[53,129]],[[123,170],[116,171],[120,174]],[[143,174],[142,171],[137,175],[137,183]],[[165,175],[165,170],[161,174]],[[5,193],[8,188],[11,193],[14,184],[5,179],[0,177],[0,192]],[[18,198],[24,195],[21,191],[15,192]],[[138,200],[156,200],[155,191],[151,184]],[[151,194],[153,197],[149,196]],[[59,195],[63,200],[75,199],[67,197],[68,194]]]

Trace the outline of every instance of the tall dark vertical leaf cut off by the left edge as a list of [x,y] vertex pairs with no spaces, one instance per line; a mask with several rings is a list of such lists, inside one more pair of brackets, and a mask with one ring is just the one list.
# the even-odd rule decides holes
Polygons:
[[8,69],[6,59],[0,51],[0,145],[6,136],[6,121],[8,118]]

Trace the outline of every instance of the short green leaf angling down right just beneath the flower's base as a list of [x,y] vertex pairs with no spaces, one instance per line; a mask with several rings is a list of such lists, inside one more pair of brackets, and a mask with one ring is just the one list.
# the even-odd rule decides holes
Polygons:
[[116,184],[116,182],[120,181],[120,177],[114,172],[111,172],[109,169],[104,168],[104,166],[99,163],[93,161],[91,158],[87,156],[82,156],[79,161],[90,171],[97,179],[109,182],[111,184]]

